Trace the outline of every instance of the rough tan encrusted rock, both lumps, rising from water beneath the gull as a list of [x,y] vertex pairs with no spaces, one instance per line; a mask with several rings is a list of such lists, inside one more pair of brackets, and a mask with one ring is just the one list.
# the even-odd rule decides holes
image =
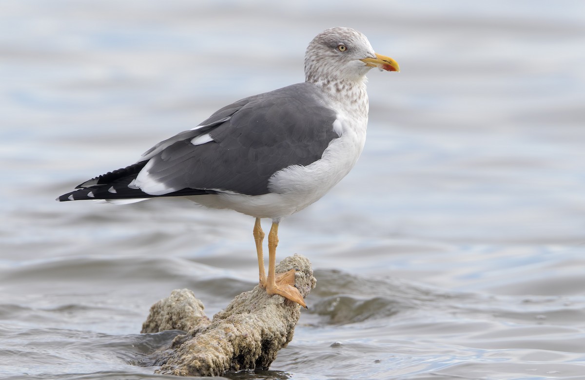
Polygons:
[[[285,258],[276,272],[297,270],[295,285],[306,297],[315,287],[311,262],[301,255]],[[150,309],[142,332],[166,329],[189,331],[177,336],[157,362],[160,374],[221,376],[226,371],[267,369],[278,350],[292,340],[300,305],[279,295],[269,296],[260,286],[242,293],[209,322],[203,305],[191,291],[173,291]]]

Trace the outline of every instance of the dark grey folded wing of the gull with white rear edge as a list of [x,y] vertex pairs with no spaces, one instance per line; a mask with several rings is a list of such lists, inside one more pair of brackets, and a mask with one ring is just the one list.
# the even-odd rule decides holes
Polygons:
[[136,185],[154,195],[181,189],[267,194],[271,175],[314,163],[339,137],[335,111],[324,100],[314,85],[301,83],[226,106],[147,151]]

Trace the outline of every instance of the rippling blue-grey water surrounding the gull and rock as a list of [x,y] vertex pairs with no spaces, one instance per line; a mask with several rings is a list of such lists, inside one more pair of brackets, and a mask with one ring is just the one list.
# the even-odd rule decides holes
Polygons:
[[331,26],[402,72],[370,73],[359,163],[281,223],[318,278],[294,339],[229,376],[585,379],[579,0],[3,1],[0,378],[164,377],[138,365],[172,338],[138,334],[150,305],[254,286],[250,217],[54,198],[302,81]]

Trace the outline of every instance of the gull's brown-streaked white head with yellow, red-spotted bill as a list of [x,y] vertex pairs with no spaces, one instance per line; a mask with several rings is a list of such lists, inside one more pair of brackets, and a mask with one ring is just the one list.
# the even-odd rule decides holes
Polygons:
[[395,60],[377,54],[366,36],[349,27],[332,27],[317,34],[305,53],[307,82],[363,82],[373,67],[400,71]]

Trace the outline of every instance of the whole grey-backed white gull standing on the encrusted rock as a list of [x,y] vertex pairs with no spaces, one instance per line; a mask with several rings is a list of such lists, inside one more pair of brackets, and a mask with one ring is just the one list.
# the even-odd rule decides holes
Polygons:
[[[318,34],[305,53],[305,82],[250,96],[161,141],[137,163],[90,179],[58,201],[132,203],[185,196],[256,218],[260,285],[307,307],[295,270],[275,274],[278,223],[324,196],[355,165],[366,140],[366,74],[399,71],[347,27]],[[272,219],[268,276],[261,218]]]

